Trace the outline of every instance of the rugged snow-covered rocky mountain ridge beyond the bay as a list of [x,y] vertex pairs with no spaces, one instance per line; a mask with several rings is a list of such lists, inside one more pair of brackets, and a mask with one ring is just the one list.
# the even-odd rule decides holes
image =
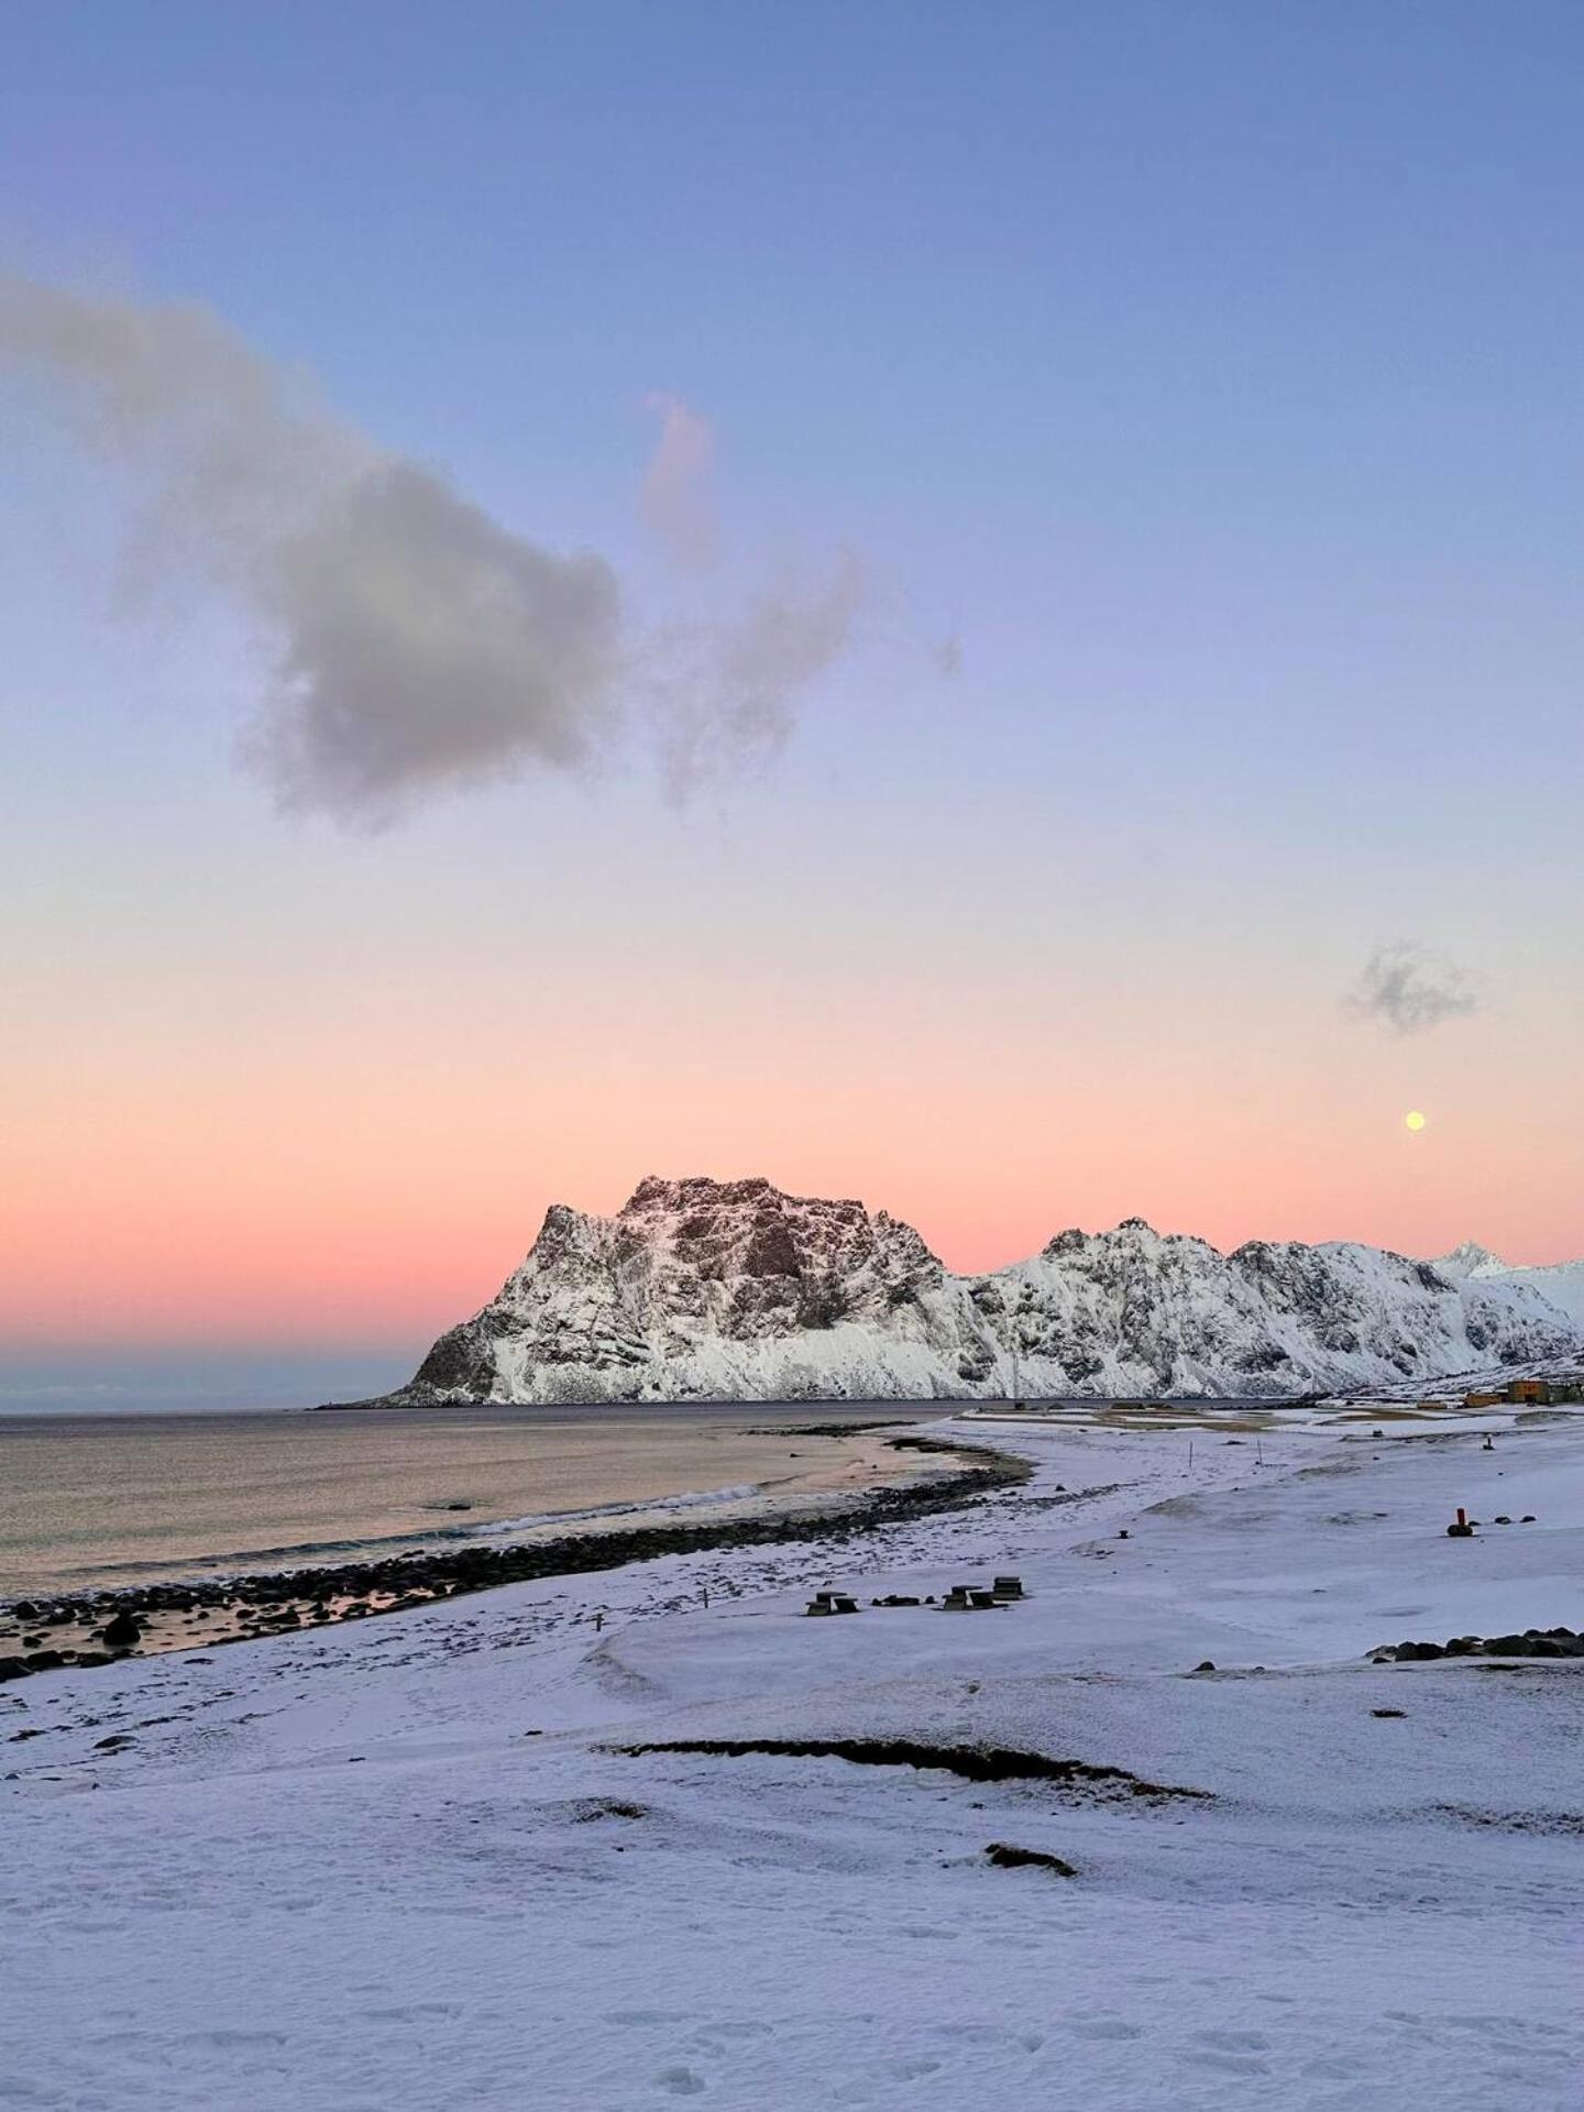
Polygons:
[[961,1400],[1299,1394],[1584,1345],[1535,1288],[1373,1246],[1060,1231],[953,1276],[860,1202],[769,1181],[638,1185],[615,1217],[553,1204],[526,1261],[391,1398]]

